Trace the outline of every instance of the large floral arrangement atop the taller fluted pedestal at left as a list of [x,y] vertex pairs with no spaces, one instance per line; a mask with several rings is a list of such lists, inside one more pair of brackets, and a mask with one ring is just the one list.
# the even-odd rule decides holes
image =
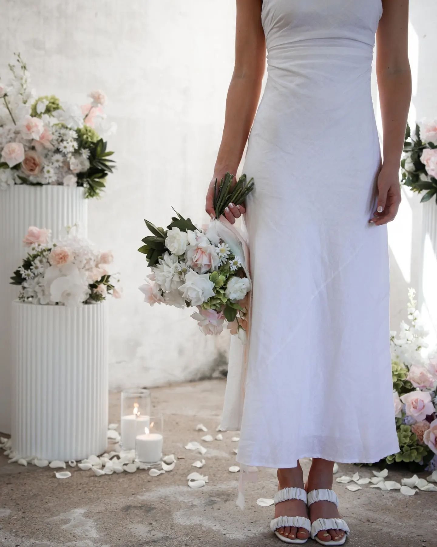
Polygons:
[[0,80],[0,188],[14,184],[84,187],[85,197],[105,188],[114,161],[104,141],[115,130],[103,112],[102,91],[79,106],[55,95],[36,97],[21,56]]

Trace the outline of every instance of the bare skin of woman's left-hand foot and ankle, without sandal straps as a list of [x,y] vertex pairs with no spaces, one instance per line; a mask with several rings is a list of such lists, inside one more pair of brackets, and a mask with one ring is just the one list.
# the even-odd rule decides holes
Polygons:
[[[303,488],[304,478],[302,467],[298,462],[297,467],[289,469],[278,469],[277,480],[279,482],[278,490],[282,488]],[[275,505],[275,518],[279,516],[304,516],[308,519],[308,508],[305,502],[300,499],[287,499]],[[277,533],[288,539],[308,539],[310,533],[305,528],[277,528]]]

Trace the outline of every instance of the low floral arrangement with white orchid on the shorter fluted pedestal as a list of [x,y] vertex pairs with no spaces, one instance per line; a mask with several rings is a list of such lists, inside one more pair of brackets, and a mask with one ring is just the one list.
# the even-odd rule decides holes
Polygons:
[[21,302],[80,306],[102,302],[108,294],[120,298],[120,281],[108,271],[113,254],[96,251],[77,227],[51,242],[50,230],[31,226],[23,243],[29,252],[11,277],[11,284],[21,287]]

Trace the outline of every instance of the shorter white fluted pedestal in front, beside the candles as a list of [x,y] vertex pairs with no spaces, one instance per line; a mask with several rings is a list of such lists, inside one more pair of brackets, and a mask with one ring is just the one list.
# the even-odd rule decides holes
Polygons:
[[108,429],[107,304],[14,301],[12,446],[20,456],[101,454]]

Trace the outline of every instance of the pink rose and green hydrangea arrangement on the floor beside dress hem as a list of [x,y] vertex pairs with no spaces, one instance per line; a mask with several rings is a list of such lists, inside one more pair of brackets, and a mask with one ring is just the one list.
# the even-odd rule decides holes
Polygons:
[[393,399],[400,451],[381,461],[383,467],[404,462],[411,470],[437,469],[437,354],[422,357],[427,331],[409,289],[408,319],[391,333]]

